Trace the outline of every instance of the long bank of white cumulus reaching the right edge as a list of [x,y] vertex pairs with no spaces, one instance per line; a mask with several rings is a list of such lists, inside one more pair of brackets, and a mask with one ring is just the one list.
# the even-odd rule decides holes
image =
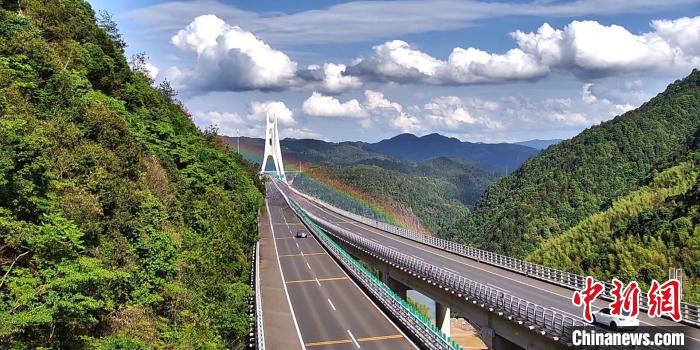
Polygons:
[[596,21],[573,21],[563,29],[545,23],[536,32],[511,33],[518,47],[504,54],[457,47],[447,60],[393,40],[374,46],[372,55],[346,71],[377,81],[462,85],[535,80],[553,70],[600,77],[700,65],[700,16],[651,25],[654,31],[633,34]]

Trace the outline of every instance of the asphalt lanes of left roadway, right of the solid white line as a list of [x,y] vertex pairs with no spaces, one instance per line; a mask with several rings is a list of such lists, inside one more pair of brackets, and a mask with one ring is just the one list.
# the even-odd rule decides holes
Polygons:
[[[415,349],[305,229],[275,186],[267,207],[277,259],[301,342],[306,349]],[[265,300],[263,300],[263,309]],[[274,337],[265,329],[265,338]]]

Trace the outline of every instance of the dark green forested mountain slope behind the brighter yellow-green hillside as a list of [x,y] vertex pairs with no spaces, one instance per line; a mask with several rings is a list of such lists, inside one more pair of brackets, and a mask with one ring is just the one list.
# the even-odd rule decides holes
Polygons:
[[638,109],[549,147],[492,185],[477,205],[471,243],[513,256],[533,252],[652,183],[698,127],[700,72],[694,70]]

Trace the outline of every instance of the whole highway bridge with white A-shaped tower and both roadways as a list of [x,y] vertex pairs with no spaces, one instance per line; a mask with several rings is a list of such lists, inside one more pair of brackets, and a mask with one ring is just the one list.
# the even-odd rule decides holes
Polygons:
[[[276,122],[267,124],[265,158],[280,153]],[[606,331],[584,322],[571,302],[584,276],[346,212],[289,187],[281,155],[273,162],[254,264],[258,349],[456,350],[453,310],[497,350],[563,349],[575,328]],[[297,238],[299,230],[312,234]],[[406,303],[408,290],[435,301],[435,324]],[[610,290],[606,284],[603,299]],[[648,308],[645,295],[639,301]],[[686,348],[700,349],[700,308],[681,306],[692,327],[644,312],[640,324],[683,332]]]

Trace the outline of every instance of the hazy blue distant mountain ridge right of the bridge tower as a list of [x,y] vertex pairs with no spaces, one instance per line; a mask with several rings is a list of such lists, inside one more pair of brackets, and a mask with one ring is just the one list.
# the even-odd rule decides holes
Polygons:
[[377,143],[367,144],[370,150],[413,161],[452,157],[478,164],[488,170],[506,173],[519,167],[539,151],[509,143],[462,142],[454,137],[430,134],[418,137],[401,134]]

